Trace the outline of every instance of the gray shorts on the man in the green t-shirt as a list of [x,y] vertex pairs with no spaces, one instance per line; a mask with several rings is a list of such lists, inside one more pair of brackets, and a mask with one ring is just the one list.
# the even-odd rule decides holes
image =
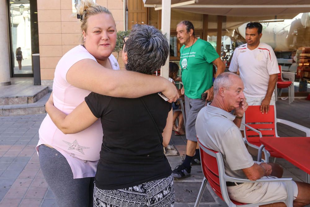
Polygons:
[[196,118],[198,112],[206,106],[206,101],[201,99],[192,99],[185,97],[185,112],[186,112],[186,139],[197,142],[197,134],[196,134]]

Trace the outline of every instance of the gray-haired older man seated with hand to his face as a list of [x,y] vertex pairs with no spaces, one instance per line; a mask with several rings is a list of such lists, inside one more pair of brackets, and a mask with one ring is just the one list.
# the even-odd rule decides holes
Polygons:
[[[279,165],[253,161],[243,143],[239,127],[248,107],[243,88],[239,76],[230,72],[220,74],[215,79],[213,102],[202,108],[197,116],[197,137],[207,148],[222,153],[225,173],[228,176],[250,180],[281,178],[283,170]],[[294,206],[308,205],[310,184],[292,182]],[[283,182],[227,182],[227,191],[232,200],[243,203],[283,200],[287,197],[286,185]],[[278,202],[264,206],[286,205]]]

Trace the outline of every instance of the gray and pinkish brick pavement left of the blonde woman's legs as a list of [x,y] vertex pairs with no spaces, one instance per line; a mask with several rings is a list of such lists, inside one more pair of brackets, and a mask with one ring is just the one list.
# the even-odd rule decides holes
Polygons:
[[57,206],[35,152],[44,117],[45,114],[0,119],[1,207]]

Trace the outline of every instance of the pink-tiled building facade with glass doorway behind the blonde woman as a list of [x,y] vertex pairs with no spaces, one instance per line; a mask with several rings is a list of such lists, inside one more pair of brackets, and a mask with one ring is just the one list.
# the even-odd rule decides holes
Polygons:
[[[6,55],[0,56],[4,63],[0,69],[0,84],[10,84],[10,77],[33,77],[33,54],[40,56],[40,79],[42,85],[52,85],[55,67],[60,58],[80,43],[82,31],[77,19],[77,0],[1,0],[7,13],[0,14],[6,20],[1,26],[7,31]],[[115,20],[117,31],[124,30],[123,0],[94,0],[107,7]],[[19,70],[16,60],[17,48],[21,47],[23,60]],[[113,55],[117,56],[116,53]],[[121,58],[119,58],[121,61]],[[124,68],[124,64],[119,64]],[[36,73],[36,71],[35,71]]]

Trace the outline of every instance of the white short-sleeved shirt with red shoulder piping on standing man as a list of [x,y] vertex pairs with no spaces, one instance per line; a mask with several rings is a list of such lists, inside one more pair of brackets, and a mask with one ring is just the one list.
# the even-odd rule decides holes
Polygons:
[[280,73],[273,49],[265,43],[259,43],[254,50],[249,50],[247,44],[237,47],[229,71],[236,73],[238,69],[244,84],[243,92],[249,97],[266,96],[269,75]]

